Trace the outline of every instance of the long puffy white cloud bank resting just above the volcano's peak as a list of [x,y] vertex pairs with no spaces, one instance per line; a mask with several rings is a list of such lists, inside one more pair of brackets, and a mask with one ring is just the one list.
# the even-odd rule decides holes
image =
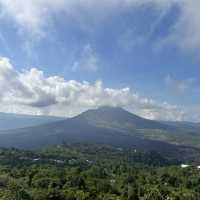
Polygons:
[[74,116],[89,108],[108,105],[124,107],[150,119],[184,117],[177,106],[141,97],[130,88],[107,88],[102,81],[91,84],[59,76],[45,77],[36,68],[19,72],[8,58],[0,58],[0,94],[2,112]]

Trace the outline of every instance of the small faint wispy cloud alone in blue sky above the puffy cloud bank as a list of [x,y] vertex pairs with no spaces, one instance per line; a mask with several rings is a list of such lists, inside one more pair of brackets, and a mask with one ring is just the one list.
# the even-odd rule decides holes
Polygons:
[[90,44],[84,46],[79,58],[76,59],[77,61],[75,61],[72,65],[73,71],[97,71],[99,68],[99,58]]

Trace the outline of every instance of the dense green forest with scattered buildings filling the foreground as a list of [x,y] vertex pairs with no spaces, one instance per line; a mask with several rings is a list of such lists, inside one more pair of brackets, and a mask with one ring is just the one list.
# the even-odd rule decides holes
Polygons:
[[156,152],[73,144],[0,150],[1,200],[198,200],[198,161],[181,168]]

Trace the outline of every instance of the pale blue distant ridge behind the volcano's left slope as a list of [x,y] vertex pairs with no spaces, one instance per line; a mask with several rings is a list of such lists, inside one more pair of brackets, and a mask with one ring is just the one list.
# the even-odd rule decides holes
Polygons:
[[25,128],[60,121],[64,118],[0,113],[0,130]]

